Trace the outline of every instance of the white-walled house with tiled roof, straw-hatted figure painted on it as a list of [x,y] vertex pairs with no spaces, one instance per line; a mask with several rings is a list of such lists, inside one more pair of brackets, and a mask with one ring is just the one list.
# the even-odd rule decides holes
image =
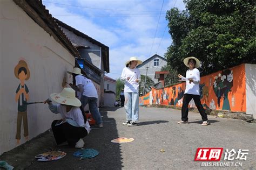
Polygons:
[[2,154],[50,129],[51,122],[60,118],[47,105],[31,103],[60,93],[65,82],[72,81],[66,72],[80,54],[42,1],[0,1],[0,11]]

